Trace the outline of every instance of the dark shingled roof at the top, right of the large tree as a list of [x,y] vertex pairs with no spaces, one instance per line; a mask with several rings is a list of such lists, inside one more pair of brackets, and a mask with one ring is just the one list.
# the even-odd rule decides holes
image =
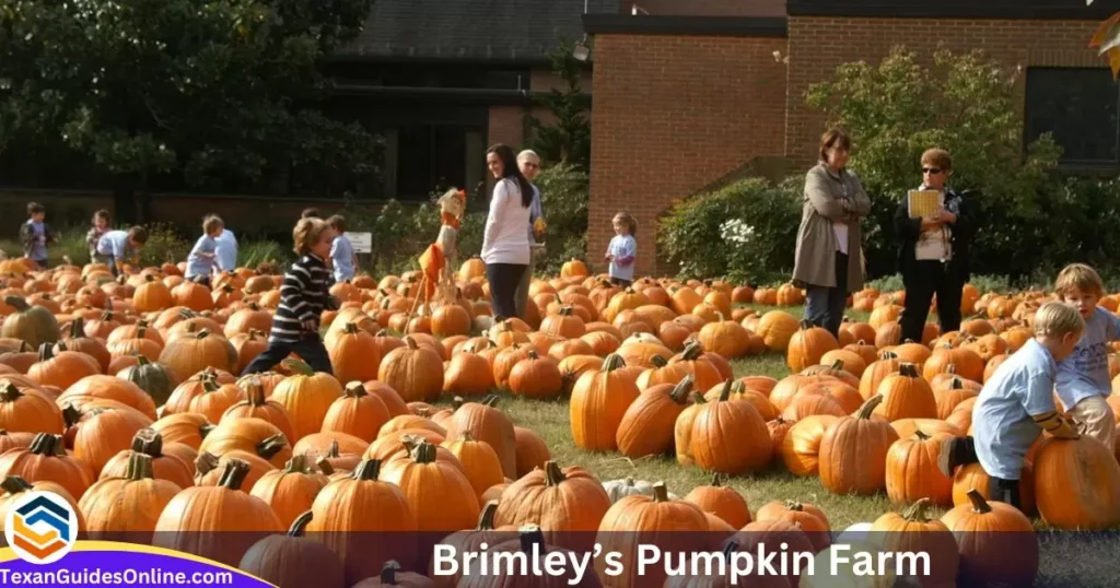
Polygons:
[[[586,0],[618,12],[618,0]],[[584,35],[585,0],[375,0],[340,56],[541,62],[561,37]]]

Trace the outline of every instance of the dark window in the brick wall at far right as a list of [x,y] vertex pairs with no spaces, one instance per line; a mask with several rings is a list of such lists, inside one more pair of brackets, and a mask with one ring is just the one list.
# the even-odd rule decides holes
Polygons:
[[1026,134],[1049,132],[1068,166],[1120,165],[1120,85],[1108,68],[1027,69]]

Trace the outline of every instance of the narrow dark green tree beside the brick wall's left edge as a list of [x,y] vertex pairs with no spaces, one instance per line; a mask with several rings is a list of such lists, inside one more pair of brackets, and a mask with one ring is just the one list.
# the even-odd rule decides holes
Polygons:
[[550,54],[552,73],[563,81],[562,88],[550,88],[548,94],[536,99],[536,103],[549,110],[556,122],[543,123],[529,115],[529,127],[533,132],[532,149],[547,162],[564,161],[591,168],[591,121],[589,110],[591,97],[580,85],[584,65],[572,56],[573,45],[561,41]]

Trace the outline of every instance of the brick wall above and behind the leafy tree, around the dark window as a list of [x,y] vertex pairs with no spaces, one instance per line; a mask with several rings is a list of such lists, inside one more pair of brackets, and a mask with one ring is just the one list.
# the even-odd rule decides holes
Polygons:
[[[825,119],[805,105],[809,86],[831,77],[846,62],[878,63],[895,45],[932,62],[940,45],[953,52],[983,49],[1006,67],[1101,67],[1105,62],[1089,48],[1098,21],[949,20],[790,17],[790,76],[785,152],[794,162],[811,165]],[[1021,100],[1025,76],[1019,76]],[[859,146],[856,146],[858,149]]]

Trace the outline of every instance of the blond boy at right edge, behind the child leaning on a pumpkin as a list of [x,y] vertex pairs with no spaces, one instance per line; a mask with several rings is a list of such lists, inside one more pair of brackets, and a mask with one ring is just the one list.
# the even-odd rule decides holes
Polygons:
[[1096,306],[1104,296],[1104,282],[1084,263],[1066,265],[1054,290],[1085,321],[1085,333],[1073,353],[1057,364],[1057,398],[1077,432],[1112,449],[1116,416],[1104,399],[1112,392],[1108,344],[1120,339],[1120,318]]

